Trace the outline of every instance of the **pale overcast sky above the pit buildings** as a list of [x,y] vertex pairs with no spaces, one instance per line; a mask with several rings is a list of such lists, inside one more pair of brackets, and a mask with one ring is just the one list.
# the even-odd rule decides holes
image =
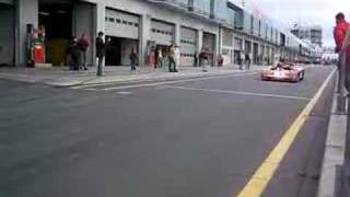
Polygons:
[[[242,3],[242,0],[232,0]],[[245,0],[246,7],[258,9],[265,15],[283,23],[322,25],[324,45],[332,46],[335,15],[343,12],[350,19],[350,0]],[[349,21],[349,20],[348,20]]]

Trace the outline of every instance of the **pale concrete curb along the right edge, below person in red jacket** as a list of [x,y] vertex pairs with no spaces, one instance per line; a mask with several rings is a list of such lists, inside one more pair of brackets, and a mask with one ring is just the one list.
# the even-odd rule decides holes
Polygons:
[[317,197],[336,197],[339,193],[338,175],[345,161],[347,114],[337,114],[337,96],[335,91]]

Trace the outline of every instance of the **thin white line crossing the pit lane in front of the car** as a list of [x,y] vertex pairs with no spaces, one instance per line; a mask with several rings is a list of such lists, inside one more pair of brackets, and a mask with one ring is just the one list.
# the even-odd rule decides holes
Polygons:
[[265,97],[278,97],[278,99],[288,99],[288,100],[310,101],[308,97],[289,96],[289,95],[280,95],[280,94],[264,94],[264,93],[256,93],[256,92],[242,92],[242,91],[229,91],[229,90],[217,90],[217,89],[198,89],[198,88],[176,86],[176,85],[162,85],[162,86],[168,88],[168,89],[179,89],[179,90],[189,90],[189,91],[201,91],[201,92],[211,92],[211,93],[252,95],[252,96],[265,96]]

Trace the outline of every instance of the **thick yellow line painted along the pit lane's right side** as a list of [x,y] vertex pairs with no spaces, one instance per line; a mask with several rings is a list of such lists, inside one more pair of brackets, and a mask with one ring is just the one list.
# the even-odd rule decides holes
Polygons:
[[273,148],[270,154],[265,159],[264,163],[258,167],[249,182],[245,185],[242,192],[237,195],[237,197],[259,197],[262,195],[265,188],[268,183],[271,181],[275,172],[280,165],[282,159],[287,154],[288,150],[292,146],[295,137],[301,131],[301,128],[305,124],[307,117],[315,107],[317,101],[320,99],[323,92],[325,91],[327,84],[331,80],[335,74],[336,69],[331,71],[326,81],[318,89],[315,96],[308,102],[306,107],[302,111],[302,113],[298,116],[294,123],[289,127],[285,131],[281,140]]

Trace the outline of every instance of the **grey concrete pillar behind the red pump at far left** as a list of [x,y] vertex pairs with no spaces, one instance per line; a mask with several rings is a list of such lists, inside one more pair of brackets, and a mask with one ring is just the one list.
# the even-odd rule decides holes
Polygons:
[[38,0],[18,0],[15,14],[15,65],[26,65],[26,25],[38,27]]

